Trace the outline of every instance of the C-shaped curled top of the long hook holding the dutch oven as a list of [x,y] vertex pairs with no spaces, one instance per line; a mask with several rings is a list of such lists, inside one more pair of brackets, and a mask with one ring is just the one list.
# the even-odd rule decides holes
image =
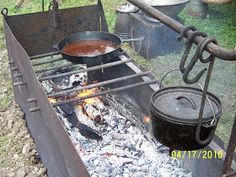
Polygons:
[[215,56],[211,54],[208,58],[204,59],[204,58],[203,58],[203,55],[202,55],[203,52],[204,52],[204,50],[205,50],[205,48],[206,48],[206,46],[207,46],[209,43],[211,43],[211,42],[213,42],[214,44],[218,44],[218,42],[216,41],[216,39],[214,39],[214,38],[206,38],[206,39],[204,39],[204,40],[202,41],[201,46],[199,47],[198,58],[200,59],[200,61],[201,61],[202,63],[208,63],[208,62],[210,62],[211,60],[213,60],[213,59],[215,58]]

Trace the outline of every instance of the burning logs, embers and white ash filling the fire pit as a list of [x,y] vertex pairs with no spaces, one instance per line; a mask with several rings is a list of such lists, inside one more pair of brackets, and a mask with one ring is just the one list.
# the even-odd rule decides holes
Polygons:
[[[78,78],[82,80],[79,82]],[[70,87],[75,82],[80,83],[75,87],[83,87],[87,82],[84,78],[86,73],[42,84],[46,92],[53,92],[55,87],[66,89],[66,85]],[[105,89],[96,87],[72,95],[80,98]],[[49,101],[56,103],[57,99]],[[149,124],[150,118],[122,94],[84,99],[55,110],[91,176],[192,176],[140,122]]]

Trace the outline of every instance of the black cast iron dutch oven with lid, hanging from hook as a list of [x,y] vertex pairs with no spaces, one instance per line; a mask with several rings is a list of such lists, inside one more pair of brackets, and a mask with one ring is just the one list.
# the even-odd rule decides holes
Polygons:
[[200,139],[208,141],[199,144],[195,139],[202,90],[182,86],[160,89],[152,95],[151,116],[155,138],[170,149],[177,150],[196,150],[209,144],[222,109],[216,96],[209,92],[207,95]]

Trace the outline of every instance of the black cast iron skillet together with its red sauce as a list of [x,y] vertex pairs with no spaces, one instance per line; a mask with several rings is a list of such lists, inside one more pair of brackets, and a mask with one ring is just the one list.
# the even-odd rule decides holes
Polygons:
[[[121,39],[107,32],[85,31],[66,36],[53,47],[57,49],[65,59],[74,64],[93,66],[108,62],[117,56],[123,42],[142,40],[143,38]],[[78,46],[76,47],[77,44],[79,48],[77,48]],[[66,48],[69,52],[65,50]],[[100,49],[101,51],[96,51]],[[84,53],[83,50],[85,51]]]

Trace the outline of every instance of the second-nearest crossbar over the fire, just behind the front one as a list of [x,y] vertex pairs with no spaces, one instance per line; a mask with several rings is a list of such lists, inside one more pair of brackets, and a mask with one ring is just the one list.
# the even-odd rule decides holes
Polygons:
[[84,87],[80,87],[80,88],[74,88],[74,89],[70,89],[70,90],[66,90],[66,91],[61,91],[61,92],[57,92],[54,94],[49,94],[48,97],[55,97],[55,96],[60,96],[60,95],[66,95],[66,94],[70,94],[72,92],[78,92],[78,91],[82,91],[82,90],[87,90],[87,89],[92,89],[92,88],[96,88],[96,87],[101,87],[104,85],[108,85],[108,84],[112,84],[115,82],[120,82],[120,81],[124,81],[127,79],[133,79],[136,77],[140,77],[140,76],[146,76],[150,74],[150,72],[143,72],[143,73],[139,73],[139,74],[132,74],[129,76],[124,76],[124,77],[119,77],[119,78],[115,78],[115,79],[111,79],[111,80],[107,80],[107,81],[103,81],[103,82],[98,82],[95,84],[90,84],[90,85],[86,85]]

